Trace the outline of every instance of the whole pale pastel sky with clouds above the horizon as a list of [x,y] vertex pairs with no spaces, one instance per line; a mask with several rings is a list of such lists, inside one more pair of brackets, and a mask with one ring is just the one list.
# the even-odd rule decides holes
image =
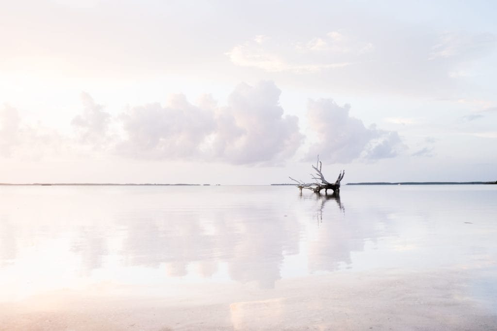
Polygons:
[[0,9],[1,183],[497,180],[494,1]]

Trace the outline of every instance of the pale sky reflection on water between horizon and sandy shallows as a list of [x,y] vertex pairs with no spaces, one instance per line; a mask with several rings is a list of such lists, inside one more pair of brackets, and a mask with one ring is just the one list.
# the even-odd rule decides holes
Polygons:
[[496,270],[496,186],[346,186],[338,199],[293,187],[0,187],[0,198],[3,300],[99,282],[271,289],[436,268],[472,270],[470,295],[496,293],[478,272]]

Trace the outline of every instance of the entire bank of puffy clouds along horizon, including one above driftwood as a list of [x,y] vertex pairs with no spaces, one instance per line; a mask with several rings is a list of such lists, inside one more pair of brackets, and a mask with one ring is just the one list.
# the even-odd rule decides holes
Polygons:
[[348,163],[395,157],[404,147],[397,132],[374,125],[366,128],[350,116],[349,105],[339,106],[331,99],[309,101],[309,129],[317,141],[304,145],[299,119],[284,113],[280,94],[271,81],[242,83],[226,105],[219,106],[208,95],[193,104],[176,94],[165,105],[145,104],[112,116],[82,93],[82,111],[71,121],[73,136],[29,127],[17,110],[5,106],[0,112],[0,153],[9,157],[21,149],[57,153],[64,148],[132,159],[278,166],[296,154],[312,160],[319,154],[328,163]]

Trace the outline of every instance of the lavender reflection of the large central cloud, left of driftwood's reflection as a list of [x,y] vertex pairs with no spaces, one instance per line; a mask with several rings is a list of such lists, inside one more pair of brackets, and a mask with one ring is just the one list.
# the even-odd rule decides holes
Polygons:
[[255,280],[271,288],[280,278],[283,252],[297,254],[299,247],[297,219],[270,206],[189,215],[165,212],[140,222],[124,221],[129,223],[123,247],[126,261],[154,267],[166,263],[171,276],[186,275],[192,262],[200,264],[202,275],[210,276],[218,262],[224,261],[232,279]]

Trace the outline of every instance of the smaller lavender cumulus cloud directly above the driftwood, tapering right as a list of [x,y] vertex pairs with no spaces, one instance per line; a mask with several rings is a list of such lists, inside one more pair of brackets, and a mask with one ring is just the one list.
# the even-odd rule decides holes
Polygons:
[[308,118],[318,142],[311,145],[307,159],[320,155],[330,163],[348,163],[362,157],[378,160],[398,155],[404,148],[397,132],[366,128],[361,120],[349,115],[350,105],[337,105],[331,99],[310,100]]

